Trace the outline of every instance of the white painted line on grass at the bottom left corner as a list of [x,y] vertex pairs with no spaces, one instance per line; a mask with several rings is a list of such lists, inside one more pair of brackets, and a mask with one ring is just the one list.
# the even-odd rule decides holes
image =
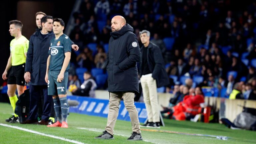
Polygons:
[[34,134],[39,134],[39,135],[42,135],[42,136],[47,136],[47,137],[51,137],[51,138],[55,138],[55,139],[60,139],[60,140],[75,143],[75,144],[85,144],[85,143],[82,143],[82,142],[79,142],[79,141],[70,140],[70,139],[66,139],[66,138],[58,137],[58,136],[53,136],[53,135],[48,135],[48,134],[40,133],[40,132],[37,132],[37,131],[33,131],[33,130],[29,130],[29,129],[25,129],[25,128],[21,128],[21,127],[17,127],[17,126],[11,126],[11,125],[2,124],[2,123],[0,123],[0,125],[5,126],[5,127],[10,127],[10,128],[15,128],[15,129],[30,132],[30,133],[34,133]]

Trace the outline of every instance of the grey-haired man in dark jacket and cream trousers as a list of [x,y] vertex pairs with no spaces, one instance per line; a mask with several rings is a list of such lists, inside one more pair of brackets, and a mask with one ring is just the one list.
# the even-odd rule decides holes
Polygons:
[[142,126],[160,128],[157,87],[168,85],[169,80],[161,50],[149,39],[149,31],[143,30],[140,32],[140,40],[144,45],[141,47],[140,82],[148,115],[148,123]]

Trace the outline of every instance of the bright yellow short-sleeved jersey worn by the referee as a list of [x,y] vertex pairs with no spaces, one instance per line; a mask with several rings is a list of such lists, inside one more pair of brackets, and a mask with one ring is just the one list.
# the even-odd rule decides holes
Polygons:
[[28,51],[29,40],[21,36],[19,39],[13,39],[10,43],[12,53],[12,66],[21,65],[26,62],[25,54]]

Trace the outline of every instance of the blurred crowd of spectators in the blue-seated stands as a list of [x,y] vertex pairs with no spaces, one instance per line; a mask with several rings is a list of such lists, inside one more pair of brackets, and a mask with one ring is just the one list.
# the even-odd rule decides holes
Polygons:
[[233,5],[223,0],[84,0],[70,34],[81,48],[72,54],[70,73],[86,68],[100,83],[97,75],[105,73],[110,19],[124,15],[140,46],[139,32],[146,29],[162,51],[171,85],[159,91],[172,92],[175,84],[184,85],[191,78],[192,88],[213,87],[214,96],[234,93],[233,99],[256,99],[256,2],[242,5],[240,11]]

